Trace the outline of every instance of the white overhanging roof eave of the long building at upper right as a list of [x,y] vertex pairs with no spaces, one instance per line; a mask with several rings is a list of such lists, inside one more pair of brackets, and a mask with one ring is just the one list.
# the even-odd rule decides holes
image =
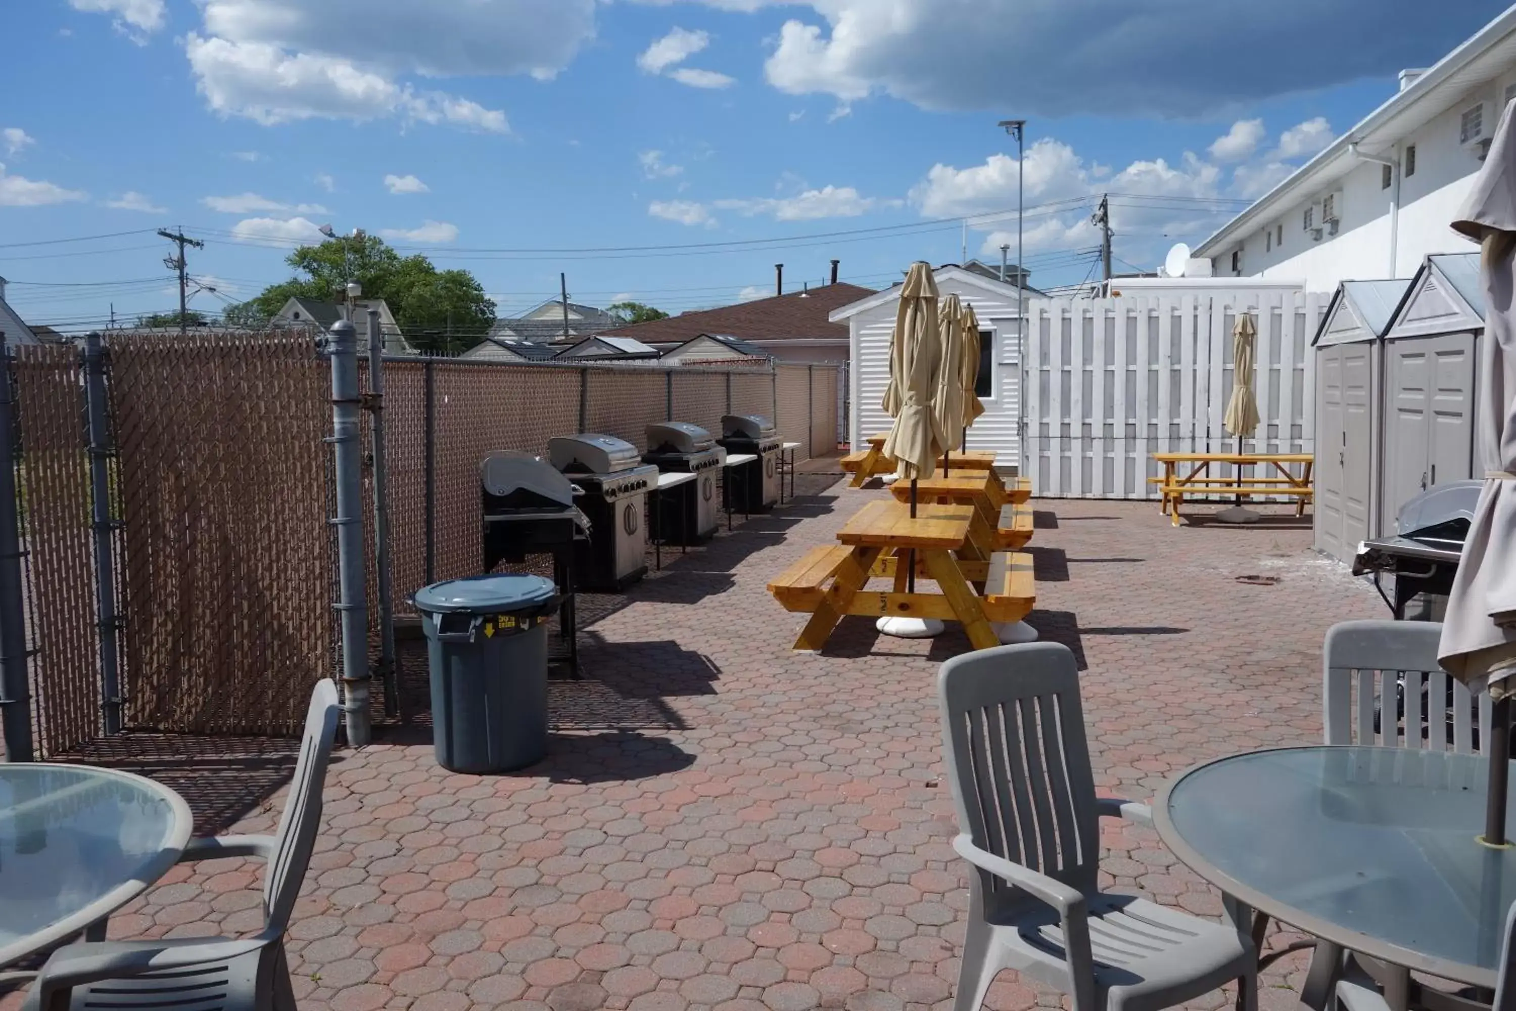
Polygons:
[[1295,174],[1258,197],[1251,208],[1201,243],[1195,256],[1214,258],[1223,253],[1254,229],[1261,227],[1264,218],[1283,214],[1299,203],[1307,192],[1325,188],[1363,164],[1357,150],[1384,155],[1407,133],[1451,109],[1469,88],[1493,80],[1513,62],[1516,62],[1516,6],[1486,24],[1326,146]]

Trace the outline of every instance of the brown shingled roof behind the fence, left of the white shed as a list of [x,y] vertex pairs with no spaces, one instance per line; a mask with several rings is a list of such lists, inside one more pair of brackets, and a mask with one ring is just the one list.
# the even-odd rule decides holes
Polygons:
[[720,309],[700,309],[672,315],[667,320],[634,323],[602,335],[634,336],[649,344],[684,344],[703,335],[722,333],[743,341],[829,340],[846,341],[847,326],[828,321],[828,314],[849,302],[873,294],[838,282],[787,296],[755,299]]

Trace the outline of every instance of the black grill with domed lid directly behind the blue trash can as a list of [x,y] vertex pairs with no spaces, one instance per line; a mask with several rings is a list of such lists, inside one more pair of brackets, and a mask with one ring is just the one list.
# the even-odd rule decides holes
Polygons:
[[575,550],[587,543],[590,520],[575,505],[576,490],[547,461],[531,453],[490,453],[479,464],[484,515],[484,571],[500,562],[550,555],[553,582],[564,596],[558,632],[568,643],[568,668],[579,673],[575,620]]

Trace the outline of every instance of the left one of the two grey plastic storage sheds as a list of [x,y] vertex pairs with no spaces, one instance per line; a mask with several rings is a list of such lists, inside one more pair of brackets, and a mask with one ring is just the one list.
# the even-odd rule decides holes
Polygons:
[[1342,561],[1375,537],[1383,338],[1411,282],[1345,280],[1316,332],[1316,549]]

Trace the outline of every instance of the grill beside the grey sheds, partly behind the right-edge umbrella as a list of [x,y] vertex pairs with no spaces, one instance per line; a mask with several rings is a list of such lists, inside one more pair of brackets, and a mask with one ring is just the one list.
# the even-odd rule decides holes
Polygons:
[[[1458,571],[1483,487],[1483,480],[1434,485],[1401,506],[1395,537],[1358,544],[1352,574],[1373,573],[1373,585],[1396,618],[1405,617],[1405,605],[1419,594],[1446,597],[1452,591],[1452,576]],[[1395,576],[1393,597],[1384,593],[1384,574]]]

